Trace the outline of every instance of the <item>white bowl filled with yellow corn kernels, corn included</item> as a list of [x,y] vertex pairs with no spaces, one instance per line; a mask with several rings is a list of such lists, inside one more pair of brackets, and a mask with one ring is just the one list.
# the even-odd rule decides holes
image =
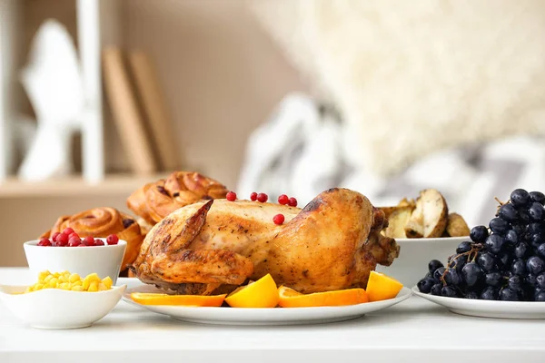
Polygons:
[[123,296],[126,285],[111,277],[84,277],[70,271],[38,273],[30,286],[0,285],[0,300],[19,319],[37,329],[78,329],[103,319]]

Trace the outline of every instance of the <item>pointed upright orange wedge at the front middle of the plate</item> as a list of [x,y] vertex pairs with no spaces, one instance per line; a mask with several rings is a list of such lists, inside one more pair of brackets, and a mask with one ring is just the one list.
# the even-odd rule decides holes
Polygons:
[[266,274],[260,280],[235,289],[225,302],[233,308],[274,308],[278,305],[276,282]]

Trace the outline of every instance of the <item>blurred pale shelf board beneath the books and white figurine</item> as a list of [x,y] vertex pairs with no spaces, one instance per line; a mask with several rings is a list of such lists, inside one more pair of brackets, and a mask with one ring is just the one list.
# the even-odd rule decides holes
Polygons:
[[148,177],[131,174],[106,175],[103,182],[90,183],[81,176],[52,179],[44,182],[24,182],[9,178],[0,182],[0,198],[26,198],[47,196],[107,195],[124,193],[127,196],[143,186],[164,178],[166,174],[154,174]]

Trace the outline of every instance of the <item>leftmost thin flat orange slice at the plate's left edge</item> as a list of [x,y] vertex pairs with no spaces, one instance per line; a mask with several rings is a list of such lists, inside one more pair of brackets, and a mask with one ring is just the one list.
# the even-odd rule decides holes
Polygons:
[[224,295],[201,296],[201,295],[167,295],[148,292],[133,292],[131,299],[142,305],[179,305],[196,307],[219,307],[222,306]]

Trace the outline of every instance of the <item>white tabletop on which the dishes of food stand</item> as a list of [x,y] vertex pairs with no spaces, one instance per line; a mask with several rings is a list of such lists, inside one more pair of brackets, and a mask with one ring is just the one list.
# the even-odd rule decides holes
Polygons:
[[[0,283],[28,282],[0,269]],[[0,362],[545,362],[545,320],[471,318],[411,297],[346,322],[291,327],[185,323],[120,301],[92,327],[40,330],[0,303]]]

